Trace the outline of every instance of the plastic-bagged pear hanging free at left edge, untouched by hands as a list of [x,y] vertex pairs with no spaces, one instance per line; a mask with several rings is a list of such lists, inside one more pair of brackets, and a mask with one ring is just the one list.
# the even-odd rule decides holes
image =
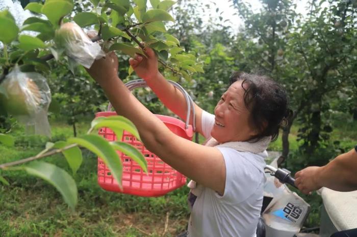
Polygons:
[[28,133],[50,136],[47,119],[51,93],[39,73],[23,73],[16,66],[0,84],[2,103],[9,114],[26,126]]

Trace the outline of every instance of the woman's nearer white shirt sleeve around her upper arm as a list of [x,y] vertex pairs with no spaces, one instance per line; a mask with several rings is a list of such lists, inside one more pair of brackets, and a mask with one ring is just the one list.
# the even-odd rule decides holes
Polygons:
[[215,195],[228,203],[240,203],[262,185],[263,175],[257,167],[247,161],[254,159],[252,154],[237,152],[228,147],[217,148],[223,155],[226,175],[223,195]]

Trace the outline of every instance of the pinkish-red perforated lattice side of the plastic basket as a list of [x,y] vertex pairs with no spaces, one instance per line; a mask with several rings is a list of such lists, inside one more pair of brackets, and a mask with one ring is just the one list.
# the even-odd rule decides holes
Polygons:
[[[172,125],[170,126],[172,127]],[[98,134],[109,141],[116,140],[115,134],[108,128],[101,128]],[[141,151],[147,161],[147,173],[143,172],[142,168],[129,156],[118,152],[123,164],[123,190],[121,191],[108,167],[98,158],[98,183],[101,187],[115,192],[141,196],[159,196],[179,188],[186,183],[186,177],[184,175],[148,151],[145,146],[130,133],[124,131],[121,140],[135,146]]]

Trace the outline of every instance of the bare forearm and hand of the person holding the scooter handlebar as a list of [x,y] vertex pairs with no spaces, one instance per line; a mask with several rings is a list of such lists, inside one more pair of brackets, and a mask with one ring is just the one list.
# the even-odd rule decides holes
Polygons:
[[340,192],[357,190],[357,152],[341,154],[322,167],[311,166],[295,174],[295,185],[303,192],[326,187]]

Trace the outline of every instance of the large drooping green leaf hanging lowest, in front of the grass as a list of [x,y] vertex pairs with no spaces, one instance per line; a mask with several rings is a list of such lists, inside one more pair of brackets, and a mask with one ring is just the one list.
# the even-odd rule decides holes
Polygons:
[[23,167],[29,174],[40,177],[62,194],[64,201],[73,210],[77,205],[77,186],[72,177],[63,169],[46,162],[32,162]]

